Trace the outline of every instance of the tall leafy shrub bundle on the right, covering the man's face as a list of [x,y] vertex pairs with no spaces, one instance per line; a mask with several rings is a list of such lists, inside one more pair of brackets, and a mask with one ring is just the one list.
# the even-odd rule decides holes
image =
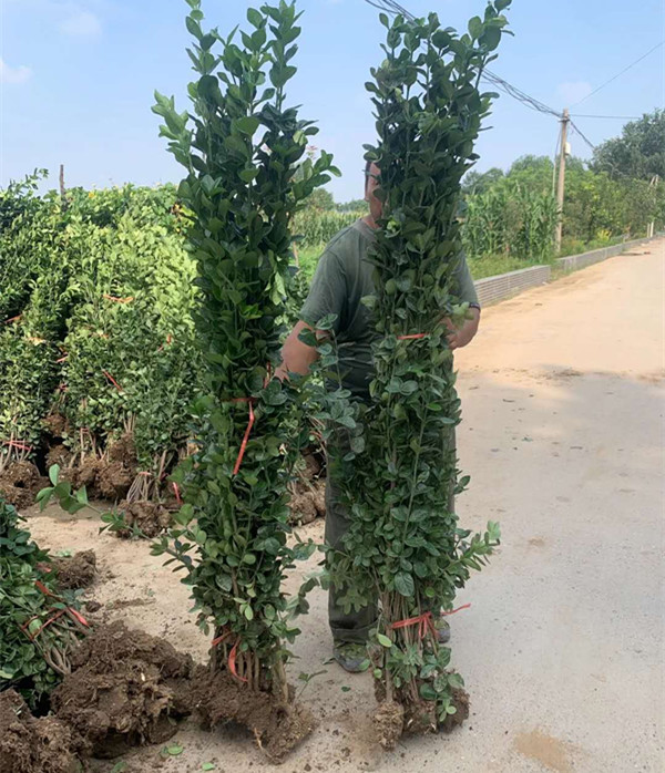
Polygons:
[[385,207],[370,254],[376,378],[360,411],[364,442],[355,437],[346,461],[336,460],[351,524],[330,567],[347,607],[377,594],[381,601],[375,676],[387,746],[402,726],[463,719],[463,682],[447,671],[450,649],[439,646],[431,612],[451,610],[458,588],[499,539],[492,523],[482,535],[461,529],[452,506],[451,494],[468,478],[457,470],[460,401],[443,319],[466,316],[451,286],[461,249],[460,181],[477,158],[473,143],[493,96],[480,93],[479,79],[509,2],[491,2],[461,37],[433,13],[392,22],[381,14],[386,60],[367,84],[379,138],[366,158],[380,168]]

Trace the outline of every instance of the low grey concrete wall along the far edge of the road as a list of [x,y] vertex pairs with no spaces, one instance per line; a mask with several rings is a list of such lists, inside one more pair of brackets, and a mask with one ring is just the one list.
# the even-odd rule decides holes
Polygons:
[[[646,244],[653,239],[661,238],[663,235],[656,235],[651,239],[634,239],[632,241],[623,241],[611,247],[602,247],[593,249],[590,252],[580,255],[570,255],[565,258],[557,258],[554,261],[554,269],[564,272],[575,271],[585,266],[597,264],[601,260],[611,258],[615,255],[628,251],[632,247]],[[552,276],[552,267],[550,266],[532,266],[522,268],[519,271],[510,271],[510,274],[500,274],[497,277],[485,277],[473,282],[478,292],[478,299],[481,306],[489,306],[497,301],[510,298],[521,290],[529,287],[538,287],[549,282]]]

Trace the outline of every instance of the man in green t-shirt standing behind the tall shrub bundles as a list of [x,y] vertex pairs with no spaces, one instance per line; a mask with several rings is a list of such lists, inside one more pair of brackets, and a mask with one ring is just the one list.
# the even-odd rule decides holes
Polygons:
[[[375,195],[378,179],[379,168],[368,162],[365,169],[365,199],[369,204],[369,215],[340,230],[321,255],[309,296],[300,312],[300,321],[284,343],[283,363],[277,373],[279,378],[285,378],[289,372],[305,374],[309,371],[317,352],[300,341],[299,334],[305,328],[311,329],[325,316],[335,315],[334,330],[338,343],[342,386],[350,390],[355,399],[369,398],[369,383],[372,379],[371,342],[375,331],[370,312],[361,299],[374,292],[374,267],[366,258],[382,210],[381,202]],[[456,267],[454,284],[458,297],[470,305],[471,318],[461,328],[454,328],[448,322],[448,342],[451,349],[466,347],[475,336],[480,320],[478,296],[463,255]],[[329,475],[326,486],[328,545],[341,546],[347,528],[348,514],[339,502],[338,488]],[[370,606],[345,615],[336,605],[336,590],[330,588],[328,616],[335,659],[347,671],[365,670],[369,664],[366,642],[376,621],[376,608]],[[450,631],[442,618],[437,627],[440,641],[447,641]]]

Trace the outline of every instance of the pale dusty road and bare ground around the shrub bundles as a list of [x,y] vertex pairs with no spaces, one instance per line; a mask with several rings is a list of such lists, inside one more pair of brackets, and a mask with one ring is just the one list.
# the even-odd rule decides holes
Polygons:
[[[503,530],[499,555],[459,597],[471,608],[451,618],[469,722],[392,754],[377,750],[371,677],[324,666],[325,596],[314,594],[291,677],[327,669],[303,695],[320,726],[282,770],[665,770],[664,258],[665,240],[652,243],[487,309],[458,357],[460,455],[472,475],[459,512],[470,527],[498,519]],[[98,537],[94,519],[54,508],[31,526],[53,549],[96,549],[103,570],[92,594],[110,619],[205,658],[186,588],[145,544]],[[205,762],[226,773],[272,769],[238,732],[184,725],[175,741],[184,752],[165,772]],[[127,763],[151,771],[158,750]]]

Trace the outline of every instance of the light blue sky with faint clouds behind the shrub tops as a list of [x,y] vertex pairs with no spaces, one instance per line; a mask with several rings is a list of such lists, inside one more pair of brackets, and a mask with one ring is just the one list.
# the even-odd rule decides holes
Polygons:
[[[203,0],[206,23],[229,31],[256,2]],[[298,0],[305,11],[289,101],[320,128],[314,144],[330,152],[342,176],[329,184],[338,202],[361,196],[362,144],[374,142],[369,69],[381,61],[385,29],[364,0]],[[437,11],[466,29],[484,0],[402,0],[412,13]],[[184,0],[0,0],[0,186],[60,164],[68,186],[177,182],[181,167],[158,137],[151,112],[157,89],[187,106],[191,62]],[[593,94],[573,103],[665,38],[662,0],[513,0],[513,38],[491,69],[556,111],[641,116],[665,103],[665,47]],[[592,143],[621,133],[624,120],[575,117]],[[524,154],[554,154],[559,124],[508,95],[497,101],[477,144],[477,168],[508,168]],[[572,153],[589,157],[582,140]]]

